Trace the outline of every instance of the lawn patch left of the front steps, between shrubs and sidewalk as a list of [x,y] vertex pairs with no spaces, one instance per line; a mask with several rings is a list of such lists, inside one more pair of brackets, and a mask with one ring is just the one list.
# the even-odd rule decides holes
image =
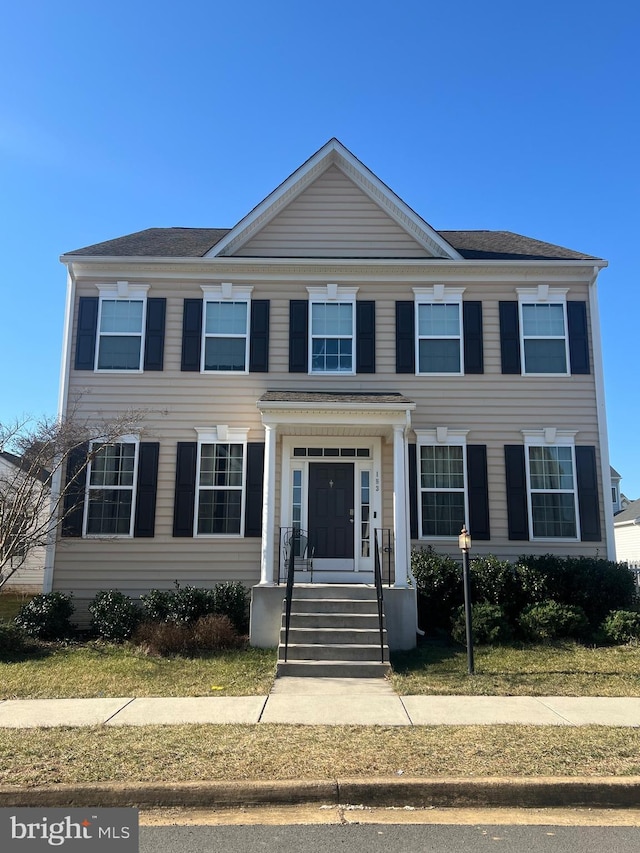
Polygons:
[[0,661],[0,698],[263,695],[275,660],[272,649],[161,658],[127,645],[43,645]]

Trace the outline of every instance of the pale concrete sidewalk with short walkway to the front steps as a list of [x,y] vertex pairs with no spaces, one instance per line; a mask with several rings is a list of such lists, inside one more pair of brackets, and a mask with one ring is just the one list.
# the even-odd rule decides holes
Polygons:
[[4,728],[185,723],[637,727],[640,698],[398,696],[378,678],[278,678],[268,696],[0,701]]

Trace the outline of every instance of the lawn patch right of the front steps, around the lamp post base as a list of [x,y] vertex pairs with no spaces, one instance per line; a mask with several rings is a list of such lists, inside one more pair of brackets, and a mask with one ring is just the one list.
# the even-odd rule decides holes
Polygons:
[[593,648],[566,642],[544,646],[479,646],[475,675],[466,649],[424,642],[392,655],[401,695],[640,696],[640,648]]

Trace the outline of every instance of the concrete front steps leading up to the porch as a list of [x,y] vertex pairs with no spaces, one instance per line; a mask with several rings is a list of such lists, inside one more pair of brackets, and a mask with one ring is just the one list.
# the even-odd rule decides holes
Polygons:
[[384,662],[381,654],[375,587],[363,584],[294,586],[286,661],[285,618],[283,602],[278,676],[382,678],[389,672],[386,628],[383,628]]

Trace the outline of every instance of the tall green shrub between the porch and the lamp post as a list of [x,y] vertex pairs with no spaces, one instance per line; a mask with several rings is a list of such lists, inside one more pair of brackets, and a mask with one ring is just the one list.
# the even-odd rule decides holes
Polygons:
[[462,568],[431,545],[411,551],[411,572],[418,591],[420,626],[426,630],[450,627],[453,611],[462,601]]

